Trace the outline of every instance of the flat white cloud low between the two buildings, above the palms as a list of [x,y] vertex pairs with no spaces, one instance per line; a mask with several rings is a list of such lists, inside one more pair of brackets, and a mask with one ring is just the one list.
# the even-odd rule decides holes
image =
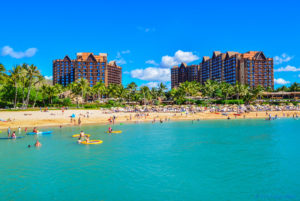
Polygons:
[[164,68],[149,67],[146,69],[135,69],[130,72],[131,77],[146,81],[170,81],[171,71]]

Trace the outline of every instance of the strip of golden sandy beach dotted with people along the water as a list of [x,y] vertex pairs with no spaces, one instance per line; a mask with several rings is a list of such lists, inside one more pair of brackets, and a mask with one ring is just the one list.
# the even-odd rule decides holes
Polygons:
[[[75,114],[72,119],[71,115]],[[234,112],[228,112],[231,119],[253,119],[253,118],[267,118],[278,115],[278,117],[292,117],[294,114],[300,114],[299,111],[261,111],[248,112],[240,116],[234,115]],[[166,120],[209,120],[209,119],[227,119],[228,116],[222,115],[220,112],[196,112],[196,113],[169,113],[169,112],[148,112],[148,113],[127,113],[127,112],[103,112],[100,110],[49,110],[47,112],[41,111],[3,111],[0,112],[0,119],[8,120],[6,122],[0,121],[0,129],[7,129],[8,127],[47,127],[47,126],[74,126],[79,125],[80,118],[81,125],[86,124],[109,124],[109,119],[116,117],[115,124],[121,122],[144,122],[144,121],[166,121]]]

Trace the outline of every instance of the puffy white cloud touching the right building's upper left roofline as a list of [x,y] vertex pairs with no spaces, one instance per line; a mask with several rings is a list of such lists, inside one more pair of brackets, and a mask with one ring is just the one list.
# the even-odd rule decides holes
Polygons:
[[182,62],[189,63],[198,59],[199,57],[197,55],[194,55],[192,52],[184,52],[182,50],[178,50],[177,52],[175,52],[175,55],[173,57],[169,55],[163,56],[161,59],[161,66],[169,68]]

